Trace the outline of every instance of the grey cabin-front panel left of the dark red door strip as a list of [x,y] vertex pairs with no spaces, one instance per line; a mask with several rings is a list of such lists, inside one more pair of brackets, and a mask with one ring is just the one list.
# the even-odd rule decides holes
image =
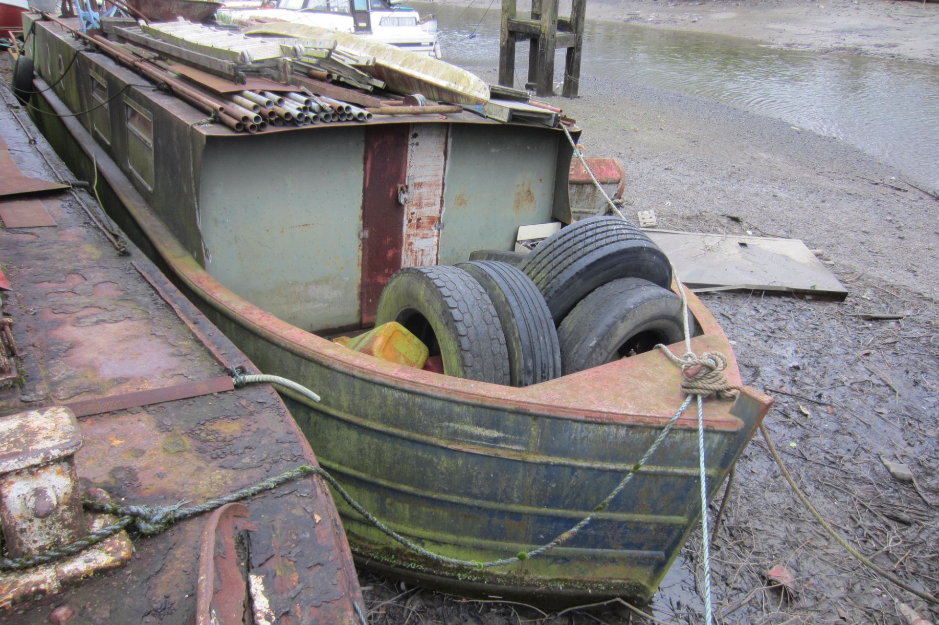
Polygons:
[[300,328],[358,323],[363,153],[364,133],[351,128],[208,139],[208,272]]

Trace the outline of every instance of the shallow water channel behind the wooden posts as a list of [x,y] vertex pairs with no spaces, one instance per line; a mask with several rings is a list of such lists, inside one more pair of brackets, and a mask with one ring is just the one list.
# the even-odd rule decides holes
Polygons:
[[[444,59],[499,66],[500,5],[414,3],[435,13]],[[516,86],[528,45],[517,47]],[[555,64],[562,80],[563,53]],[[848,53],[781,50],[745,38],[588,20],[581,76],[713,99],[835,137],[939,188],[939,67]],[[581,89],[581,95],[589,96]],[[589,120],[585,120],[588,121]]]

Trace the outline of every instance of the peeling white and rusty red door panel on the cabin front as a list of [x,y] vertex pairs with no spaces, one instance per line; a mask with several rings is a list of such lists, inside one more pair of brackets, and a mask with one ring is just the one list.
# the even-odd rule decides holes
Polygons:
[[448,135],[447,126],[412,124],[410,127],[408,204],[405,206],[401,267],[437,265]]

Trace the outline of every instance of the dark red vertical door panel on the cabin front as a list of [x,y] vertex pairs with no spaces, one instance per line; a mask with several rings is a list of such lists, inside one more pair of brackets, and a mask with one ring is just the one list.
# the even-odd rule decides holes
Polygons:
[[378,298],[401,268],[405,207],[398,204],[398,185],[406,184],[407,125],[365,129],[362,176],[362,286],[360,318],[375,323]]

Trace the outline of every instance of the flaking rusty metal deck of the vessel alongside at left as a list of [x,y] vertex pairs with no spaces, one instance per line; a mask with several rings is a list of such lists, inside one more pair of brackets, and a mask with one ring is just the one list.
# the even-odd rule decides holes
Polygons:
[[[0,109],[0,134],[8,141],[10,126],[8,111]],[[15,123],[12,127],[17,130]],[[32,149],[25,139],[20,145]],[[44,149],[44,144],[35,149]],[[54,160],[51,152],[46,156]],[[60,161],[58,166],[64,168]],[[9,258],[5,269],[16,287],[5,294],[8,310],[33,312],[18,316],[13,328],[25,379],[22,388],[0,389],[0,414],[23,411],[43,395],[84,401],[211,380],[222,374],[221,366],[203,340],[215,343],[227,361],[257,371],[129,245],[134,262],[159,284],[158,296],[71,198],[63,202],[56,221],[58,228],[29,234],[0,230],[0,249]],[[177,310],[202,337],[180,322]],[[228,380],[219,382],[228,387]],[[79,429],[84,442],[74,457],[78,478],[128,504],[203,502],[297,465],[316,464],[269,385],[131,406],[81,419]],[[269,622],[357,622],[362,594],[323,481],[295,480],[244,505],[253,512],[256,527],[247,528],[247,556],[256,575],[253,601],[267,602],[274,615]],[[66,615],[74,623],[193,622],[204,525],[205,518],[193,518],[132,546],[126,540],[105,543],[102,548],[114,552],[110,556],[97,551],[83,555],[103,564],[119,563],[135,550],[119,572],[81,574],[92,570],[85,559],[64,561],[52,571],[36,570],[41,578],[0,578],[0,593],[9,582],[11,591],[20,593],[17,597],[24,596],[18,580],[48,593],[28,610],[0,611],[0,624],[38,625],[60,622]]]

